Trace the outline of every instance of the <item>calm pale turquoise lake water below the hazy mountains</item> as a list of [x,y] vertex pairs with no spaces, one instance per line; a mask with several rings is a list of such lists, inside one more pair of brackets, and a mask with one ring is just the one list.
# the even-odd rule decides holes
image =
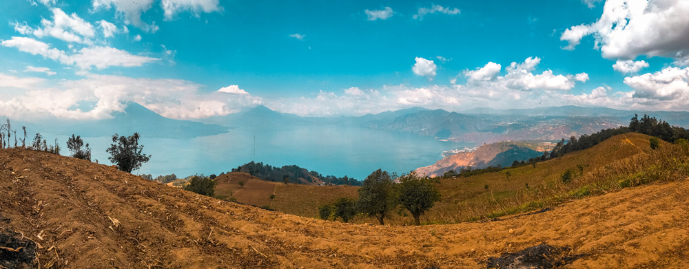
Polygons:
[[[68,137],[58,138],[68,155]],[[255,146],[254,146],[255,139]],[[105,149],[112,138],[83,138],[90,143],[92,160],[110,164]],[[231,171],[255,160],[272,166],[296,164],[322,175],[349,176],[363,180],[376,169],[408,173],[442,159],[442,152],[473,144],[442,142],[426,136],[358,127],[318,126],[286,129],[238,128],[217,136],[192,139],[142,138],[143,153],[152,155],[135,174],[178,177],[196,173]]]

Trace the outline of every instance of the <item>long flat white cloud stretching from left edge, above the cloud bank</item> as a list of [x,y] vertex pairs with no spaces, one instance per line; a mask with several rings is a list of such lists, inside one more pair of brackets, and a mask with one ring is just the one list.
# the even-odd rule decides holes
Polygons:
[[20,52],[41,55],[43,58],[50,58],[65,65],[75,65],[83,70],[91,69],[91,67],[97,69],[110,66],[134,67],[158,60],[158,58],[148,56],[132,55],[114,47],[101,46],[84,47],[73,54],[67,54],[62,50],[51,48],[46,43],[23,36],[12,36],[10,40],[0,41],[0,45],[17,47]]

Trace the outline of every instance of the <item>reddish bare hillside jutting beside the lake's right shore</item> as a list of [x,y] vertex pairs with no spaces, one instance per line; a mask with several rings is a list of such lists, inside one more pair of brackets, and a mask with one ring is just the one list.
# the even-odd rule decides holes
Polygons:
[[[450,155],[435,164],[416,169],[420,175],[429,177],[441,176],[443,173],[471,166],[474,169],[482,169],[488,166],[510,166],[515,160],[528,160],[540,157],[543,151],[550,149],[550,144],[529,142],[496,142],[484,144],[475,151],[462,152]],[[531,148],[531,149],[530,149]]]

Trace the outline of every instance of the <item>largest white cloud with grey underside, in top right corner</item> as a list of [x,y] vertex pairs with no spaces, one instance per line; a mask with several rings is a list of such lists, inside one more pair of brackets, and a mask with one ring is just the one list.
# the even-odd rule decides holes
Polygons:
[[633,60],[639,55],[689,54],[689,2],[682,0],[608,0],[595,22],[576,25],[560,36],[573,50],[593,34],[604,58]]

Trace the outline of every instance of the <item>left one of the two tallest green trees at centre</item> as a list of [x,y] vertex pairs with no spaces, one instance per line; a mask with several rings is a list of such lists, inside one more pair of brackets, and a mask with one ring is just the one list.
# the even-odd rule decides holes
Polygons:
[[359,189],[359,211],[369,216],[375,215],[380,225],[384,225],[385,213],[397,205],[395,196],[390,175],[380,169],[373,171]]

